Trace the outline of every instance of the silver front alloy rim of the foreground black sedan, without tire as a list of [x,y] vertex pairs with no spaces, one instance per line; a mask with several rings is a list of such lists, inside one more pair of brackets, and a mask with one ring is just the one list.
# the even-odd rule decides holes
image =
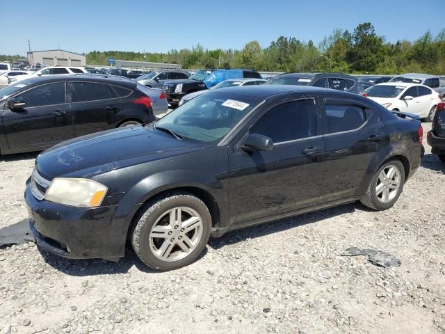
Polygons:
[[196,248],[202,237],[202,218],[190,207],[175,207],[156,220],[149,233],[149,247],[163,261],[177,261]]

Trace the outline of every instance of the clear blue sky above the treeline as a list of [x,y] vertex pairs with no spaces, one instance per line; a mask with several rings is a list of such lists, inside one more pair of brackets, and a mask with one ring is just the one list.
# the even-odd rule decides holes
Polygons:
[[[0,54],[33,50],[160,52],[263,47],[280,35],[316,45],[333,29],[371,22],[390,42],[445,28],[445,0],[76,0],[1,1]],[[10,15],[8,14],[10,13]],[[17,15],[16,15],[17,14]],[[6,27],[6,29],[5,29]]]

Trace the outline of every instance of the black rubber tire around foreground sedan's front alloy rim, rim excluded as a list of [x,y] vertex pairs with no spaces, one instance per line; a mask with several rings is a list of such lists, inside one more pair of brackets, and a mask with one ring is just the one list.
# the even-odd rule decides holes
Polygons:
[[[173,261],[161,260],[157,255],[155,255],[154,249],[150,246],[150,232],[152,232],[152,228],[159,218],[162,218],[165,216],[166,212],[171,209],[175,209],[176,207],[193,209],[195,212],[197,212],[197,214],[199,214],[202,221],[202,235],[200,239],[197,240],[195,248],[193,248],[191,253],[185,257]],[[143,212],[141,212],[136,218],[137,221],[133,227],[131,235],[133,250],[142,262],[152,269],[169,271],[186,267],[200,256],[206,247],[207,242],[209,241],[211,232],[211,215],[209,209],[204,202],[202,202],[202,200],[191,195],[190,193],[168,193],[161,198],[155,198],[151,202],[147,203],[145,208],[146,209],[143,210]],[[164,239],[161,241],[161,244],[163,242],[168,242],[168,240]],[[181,251],[179,248],[175,247],[179,246],[174,246],[172,248],[172,253],[174,253],[173,250],[175,249],[177,249],[176,253],[178,250],[179,252]]]

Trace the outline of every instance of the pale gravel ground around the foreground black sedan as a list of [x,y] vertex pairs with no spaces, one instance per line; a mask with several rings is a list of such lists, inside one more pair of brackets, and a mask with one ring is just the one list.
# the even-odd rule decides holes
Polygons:
[[[0,157],[0,228],[26,217],[35,156]],[[232,232],[168,273],[131,251],[113,263],[0,249],[0,333],[444,333],[444,172],[426,144],[388,211],[343,205]],[[340,256],[350,246],[401,267]]]

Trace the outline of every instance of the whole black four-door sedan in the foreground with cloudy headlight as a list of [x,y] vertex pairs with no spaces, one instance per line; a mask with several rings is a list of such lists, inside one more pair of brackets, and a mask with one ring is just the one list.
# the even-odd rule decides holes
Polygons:
[[221,88],[144,127],[40,154],[26,183],[40,247],[70,258],[193,262],[210,235],[361,200],[388,209],[421,163],[419,120],[298,86]]

